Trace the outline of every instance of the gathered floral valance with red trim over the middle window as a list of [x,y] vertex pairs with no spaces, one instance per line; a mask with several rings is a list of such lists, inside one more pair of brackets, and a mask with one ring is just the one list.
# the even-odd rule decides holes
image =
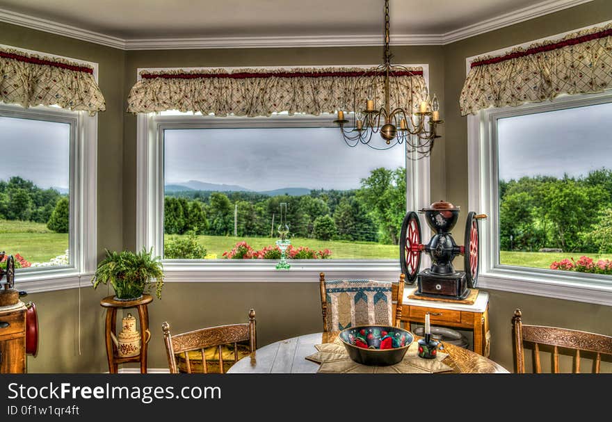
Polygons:
[[[420,104],[427,95],[421,67],[396,72],[398,100]],[[128,111],[200,111],[204,115],[267,116],[288,111],[319,115],[352,111],[355,84],[376,79],[380,90],[363,92],[356,104],[366,106],[365,95],[383,104],[383,72],[358,68],[261,70],[142,71],[131,88]],[[369,98],[372,99],[372,98]],[[392,99],[394,102],[394,99]]]

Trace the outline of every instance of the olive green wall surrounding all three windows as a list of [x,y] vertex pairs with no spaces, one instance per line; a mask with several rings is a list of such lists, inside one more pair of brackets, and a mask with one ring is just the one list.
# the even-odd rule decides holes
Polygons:
[[[458,97],[465,58],[547,35],[612,19],[612,3],[595,0],[572,9],[479,35],[444,47],[394,47],[396,63],[429,63],[430,87],[444,106],[444,137],[432,159],[432,198],[467,209],[467,127]],[[0,23],[0,43],[99,63],[99,84],[107,111],[99,113],[98,251],[134,249],[136,243],[136,118],[125,113],[127,92],[138,67],[357,65],[380,61],[381,49],[206,49],[119,51]],[[458,227],[462,227],[461,224]],[[461,238],[461,233],[457,233]],[[83,286],[89,281],[83,280]],[[81,356],[78,348],[79,289],[37,293],[29,300],[40,314],[40,352],[29,357],[30,372],[106,371],[104,313],[99,291],[81,289]],[[612,334],[612,307],[490,291],[491,357],[512,368],[510,318],[521,307],[526,323],[558,325]],[[259,345],[321,330],[318,284],[167,283],[163,299],[150,305],[150,367],[166,367],[161,323],[173,332],[246,320],[257,311]],[[610,367],[608,367],[610,368]]]

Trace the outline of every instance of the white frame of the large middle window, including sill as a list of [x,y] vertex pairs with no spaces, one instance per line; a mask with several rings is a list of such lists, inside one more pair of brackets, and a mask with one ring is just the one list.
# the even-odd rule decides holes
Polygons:
[[[421,66],[428,84],[428,65]],[[329,67],[329,66],[317,66]],[[344,66],[343,66],[344,67]],[[369,65],[348,67],[369,68]],[[257,67],[277,69],[278,67]],[[290,69],[291,66],[284,68]],[[194,70],[194,68],[182,68]],[[198,68],[202,70],[202,68]],[[228,67],[228,70],[236,67]],[[172,70],[168,68],[138,69]],[[214,117],[202,115],[137,116],[137,188],[136,188],[136,247],[153,248],[154,254],[163,253],[163,130],[186,128],[232,128],[239,124],[248,127],[335,127],[334,115],[273,115],[271,117]],[[338,142],[343,142],[338,133]],[[410,210],[430,202],[429,158],[412,161],[406,157],[406,204]],[[398,250],[399,254],[399,250]],[[399,255],[398,255],[399,258]],[[323,271],[328,278],[362,277],[397,279],[401,273],[399,259],[316,259],[292,260],[290,270],[276,270],[275,261],[268,260],[163,260],[167,282],[318,282]]]

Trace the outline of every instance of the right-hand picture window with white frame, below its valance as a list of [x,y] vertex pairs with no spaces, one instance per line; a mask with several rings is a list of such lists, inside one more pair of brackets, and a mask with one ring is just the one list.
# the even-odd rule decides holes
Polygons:
[[485,287],[612,304],[612,93],[469,117]]

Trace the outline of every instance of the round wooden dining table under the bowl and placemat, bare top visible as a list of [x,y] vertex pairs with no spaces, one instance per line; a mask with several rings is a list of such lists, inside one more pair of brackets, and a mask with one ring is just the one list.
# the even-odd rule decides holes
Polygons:
[[[336,336],[337,333],[318,332],[268,344],[240,359],[227,373],[316,373],[319,364],[305,358],[316,353],[315,344],[331,343]],[[449,354],[443,362],[454,373],[508,373],[506,368],[471,350],[444,344],[443,351]]]

